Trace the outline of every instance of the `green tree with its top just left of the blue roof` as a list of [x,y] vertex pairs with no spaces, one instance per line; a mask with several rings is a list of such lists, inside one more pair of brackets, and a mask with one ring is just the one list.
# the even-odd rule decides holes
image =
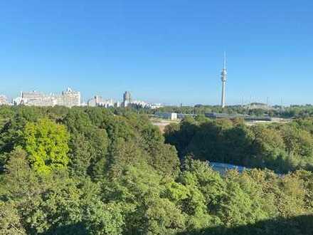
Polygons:
[[188,230],[220,225],[221,220],[216,216],[215,208],[224,194],[225,183],[219,174],[213,172],[206,162],[188,158],[179,182],[187,190],[179,204],[182,211],[189,215],[186,222]]

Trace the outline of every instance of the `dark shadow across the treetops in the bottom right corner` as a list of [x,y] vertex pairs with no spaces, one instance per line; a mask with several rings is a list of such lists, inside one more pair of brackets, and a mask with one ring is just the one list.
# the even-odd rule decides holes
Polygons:
[[313,234],[313,215],[303,215],[290,219],[273,219],[259,221],[255,224],[226,228],[224,226],[200,229],[177,235],[312,235]]

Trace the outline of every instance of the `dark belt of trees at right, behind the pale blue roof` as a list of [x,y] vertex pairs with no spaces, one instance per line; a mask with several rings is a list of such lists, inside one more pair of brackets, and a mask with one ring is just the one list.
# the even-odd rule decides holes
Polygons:
[[224,162],[268,168],[279,173],[313,169],[313,119],[287,124],[245,125],[243,120],[209,120],[198,116],[165,129],[181,160]]

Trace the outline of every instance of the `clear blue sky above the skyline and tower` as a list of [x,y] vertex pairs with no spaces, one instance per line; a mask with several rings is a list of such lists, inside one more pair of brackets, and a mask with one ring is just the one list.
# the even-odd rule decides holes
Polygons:
[[313,103],[313,1],[0,1],[0,93]]

